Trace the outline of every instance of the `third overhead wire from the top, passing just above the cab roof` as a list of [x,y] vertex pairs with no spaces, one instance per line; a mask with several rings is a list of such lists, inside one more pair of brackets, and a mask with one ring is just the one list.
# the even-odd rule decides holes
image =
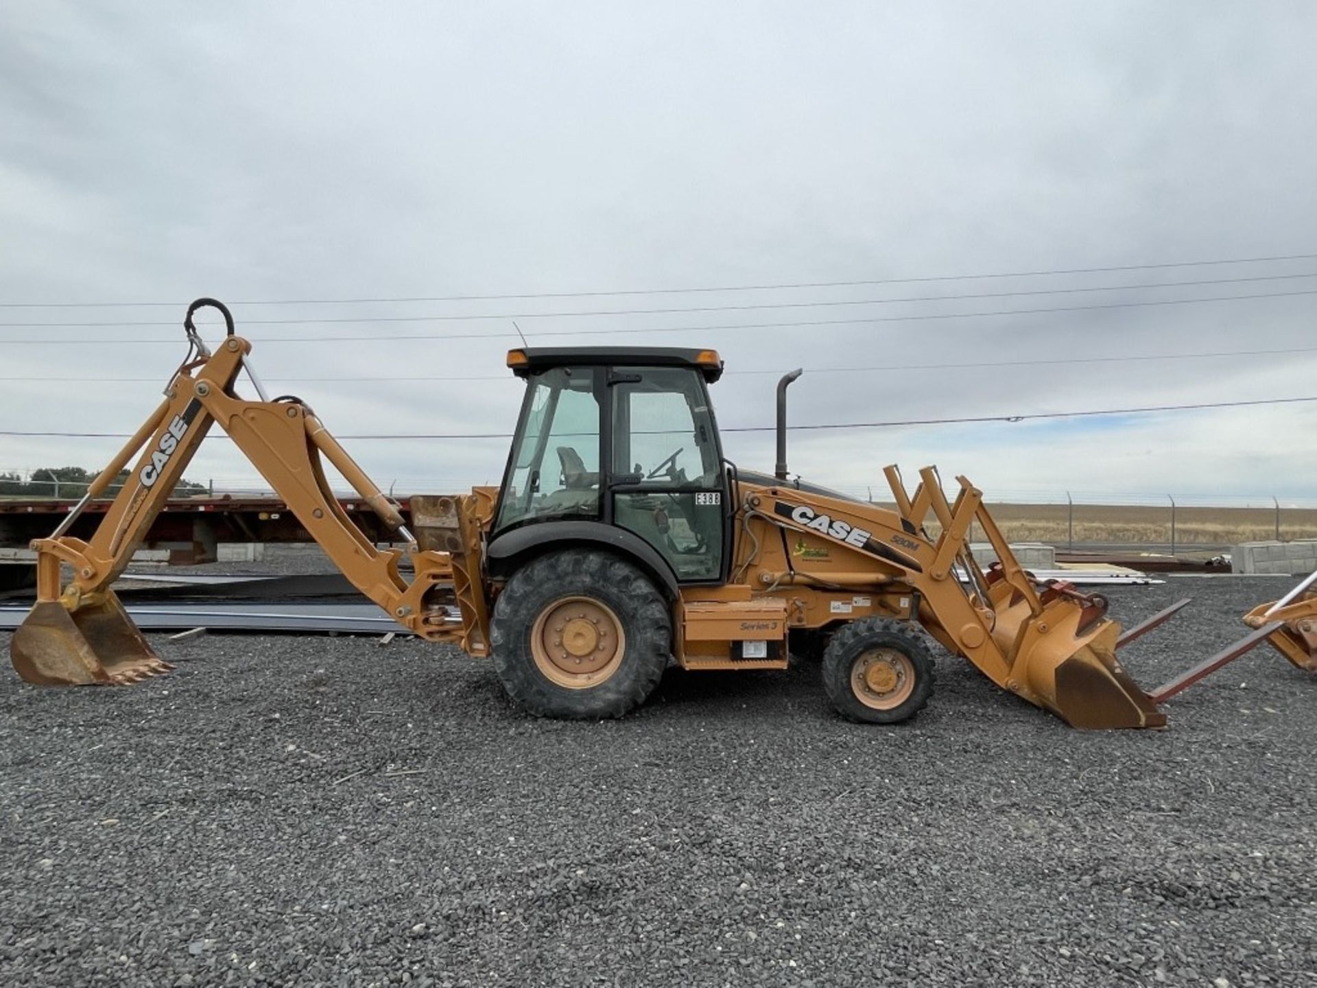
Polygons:
[[[1051,312],[1096,312],[1101,310],[1113,308],[1146,308],[1150,306],[1193,306],[1208,302],[1247,302],[1251,299],[1283,299],[1283,298],[1296,298],[1300,295],[1317,295],[1317,288],[1304,288],[1303,291],[1263,291],[1251,295],[1208,295],[1196,299],[1148,299],[1143,302],[1104,302],[1096,306],[1048,306],[1046,308],[1006,308],[1006,310],[990,310],[981,312],[926,312],[922,315],[913,316],[863,316],[857,319],[819,319],[811,321],[789,321],[789,323],[734,323],[734,324],[718,324],[718,325],[665,325],[665,327],[623,327],[623,328],[610,328],[610,329],[544,329],[540,332],[525,333],[529,339],[539,337],[552,337],[552,336],[622,336],[632,333],[695,333],[695,332],[715,332],[715,331],[728,331],[728,329],[784,329],[784,328],[806,328],[806,327],[820,327],[820,325],[877,325],[881,323],[922,323],[932,319],[984,319],[990,316],[1023,316],[1023,315],[1039,315]],[[387,333],[371,333],[369,336],[262,336],[255,340],[262,345],[267,343],[354,343],[354,341],[378,341],[378,340],[499,340],[499,339],[518,339],[516,333],[510,332],[487,332],[487,333],[412,333],[412,335],[387,335]],[[173,343],[166,337],[151,339],[151,340],[117,340],[117,339],[95,339],[95,340],[0,340],[0,346],[5,345],[30,345],[30,346],[66,346],[70,344],[78,346],[92,346],[92,345],[124,345],[124,344],[162,344]]]

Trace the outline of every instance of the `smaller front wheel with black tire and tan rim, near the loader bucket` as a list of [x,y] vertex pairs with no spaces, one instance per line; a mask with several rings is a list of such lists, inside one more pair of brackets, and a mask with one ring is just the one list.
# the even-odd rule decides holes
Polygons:
[[848,721],[909,721],[932,696],[934,678],[923,636],[898,620],[852,622],[836,631],[823,651],[823,688]]

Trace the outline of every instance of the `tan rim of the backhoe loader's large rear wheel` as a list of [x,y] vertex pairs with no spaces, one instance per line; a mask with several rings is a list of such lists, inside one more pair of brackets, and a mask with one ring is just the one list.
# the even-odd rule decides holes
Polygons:
[[554,601],[531,628],[531,655],[549,682],[589,689],[622,665],[627,636],[612,610],[589,597]]

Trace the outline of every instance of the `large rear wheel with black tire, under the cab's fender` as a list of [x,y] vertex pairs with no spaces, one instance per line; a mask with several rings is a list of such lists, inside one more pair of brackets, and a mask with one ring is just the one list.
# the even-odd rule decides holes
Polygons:
[[565,549],[512,574],[494,605],[490,643],[507,694],[536,717],[622,717],[662,677],[672,615],[631,563]]

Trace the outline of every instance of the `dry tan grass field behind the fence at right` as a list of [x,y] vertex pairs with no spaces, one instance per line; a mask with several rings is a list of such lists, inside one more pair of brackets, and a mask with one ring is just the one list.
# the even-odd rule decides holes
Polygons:
[[[1068,505],[992,505],[1008,541],[1065,547],[1071,540]],[[1171,541],[1171,506],[1075,505],[1075,545],[1166,545]],[[975,526],[975,540],[982,534]],[[1237,545],[1276,537],[1276,512],[1256,507],[1180,507],[1175,512],[1176,547]],[[1281,508],[1280,537],[1317,539],[1317,510]]]

